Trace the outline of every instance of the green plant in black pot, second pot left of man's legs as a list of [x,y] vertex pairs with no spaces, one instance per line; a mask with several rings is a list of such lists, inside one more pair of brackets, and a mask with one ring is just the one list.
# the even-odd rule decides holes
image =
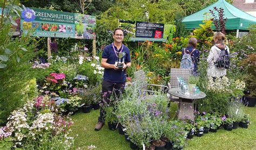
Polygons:
[[82,112],[84,113],[89,113],[91,112],[92,109],[92,99],[90,96],[90,91],[87,90],[82,90],[81,92],[78,93],[78,96],[80,98],[82,98],[82,100],[80,101],[80,107],[82,109]]

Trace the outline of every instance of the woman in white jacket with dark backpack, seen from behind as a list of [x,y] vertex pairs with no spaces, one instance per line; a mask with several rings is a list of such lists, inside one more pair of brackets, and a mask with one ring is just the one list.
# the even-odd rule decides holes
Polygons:
[[230,65],[230,49],[225,44],[224,33],[218,32],[213,36],[213,40],[215,45],[211,47],[210,54],[207,57],[207,75],[215,79],[217,77],[223,77],[226,75],[226,69],[228,69]]

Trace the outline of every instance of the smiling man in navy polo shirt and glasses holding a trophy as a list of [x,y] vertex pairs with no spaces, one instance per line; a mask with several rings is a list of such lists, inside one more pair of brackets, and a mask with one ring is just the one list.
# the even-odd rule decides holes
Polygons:
[[[105,93],[105,98],[110,98],[109,91],[114,91],[116,96],[124,91],[126,81],[126,69],[131,66],[130,50],[125,46],[122,41],[124,39],[124,31],[121,28],[114,29],[113,34],[114,42],[104,48],[102,54],[102,67],[104,67],[102,92]],[[117,52],[124,52],[122,57],[123,68],[117,67]],[[104,99],[104,100],[106,100]],[[109,102],[108,102],[109,103]],[[99,131],[104,124],[104,110],[100,108],[100,115],[95,130]]]

